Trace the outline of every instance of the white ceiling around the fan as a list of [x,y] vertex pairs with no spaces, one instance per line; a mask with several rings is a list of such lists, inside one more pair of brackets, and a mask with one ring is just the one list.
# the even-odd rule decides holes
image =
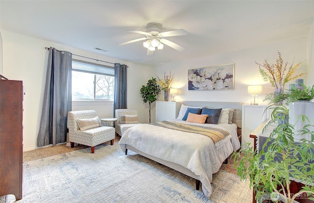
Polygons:
[[[307,37],[313,20],[314,0],[0,0],[0,29],[149,66]],[[151,22],[186,30],[166,38],[185,50],[117,45]]]

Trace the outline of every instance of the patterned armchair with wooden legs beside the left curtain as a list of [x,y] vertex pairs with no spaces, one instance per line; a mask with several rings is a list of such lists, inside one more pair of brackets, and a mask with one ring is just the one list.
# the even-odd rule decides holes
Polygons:
[[113,145],[115,129],[103,126],[94,110],[68,112],[67,127],[72,148],[74,143],[83,144],[90,146],[94,153],[95,146],[99,144],[110,141]]

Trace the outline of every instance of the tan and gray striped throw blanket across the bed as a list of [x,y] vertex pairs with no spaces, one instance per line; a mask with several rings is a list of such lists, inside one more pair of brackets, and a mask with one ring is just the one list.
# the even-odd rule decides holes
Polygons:
[[229,133],[225,130],[209,127],[209,126],[195,126],[184,123],[177,123],[172,121],[160,121],[157,123],[150,123],[151,125],[156,125],[164,128],[169,128],[177,131],[183,131],[187,133],[197,133],[201,135],[208,136],[214,144],[218,141],[223,140],[225,137],[229,135]]

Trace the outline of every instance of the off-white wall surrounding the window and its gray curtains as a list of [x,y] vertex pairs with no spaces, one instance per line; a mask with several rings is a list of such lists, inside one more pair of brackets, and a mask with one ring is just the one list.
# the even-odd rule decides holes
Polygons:
[[[25,91],[23,101],[24,151],[37,148],[36,140],[42,112],[49,53],[45,49],[46,46],[70,51],[77,55],[128,65],[128,108],[138,110],[140,122],[148,122],[149,116],[146,112],[146,105],[141,100],[139,90],[151,77],[151,68],[6,30],[1,30],[1,35],[3,42],[3,76],[10,80],[22,80]],[[83,58],[79,59],[86,60]],[[95,63],[95,61],[93,62]],[[92,105],[86,102],[73,104],[73,111],[88,109],[96,110],[99,117],[113,116],[113,102],[96,102]]]

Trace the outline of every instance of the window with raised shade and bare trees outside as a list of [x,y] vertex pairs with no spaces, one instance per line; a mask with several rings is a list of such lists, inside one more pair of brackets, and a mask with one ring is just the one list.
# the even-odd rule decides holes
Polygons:
[[72,60],[72,100],[108,100],[114,97],[114,68]]

